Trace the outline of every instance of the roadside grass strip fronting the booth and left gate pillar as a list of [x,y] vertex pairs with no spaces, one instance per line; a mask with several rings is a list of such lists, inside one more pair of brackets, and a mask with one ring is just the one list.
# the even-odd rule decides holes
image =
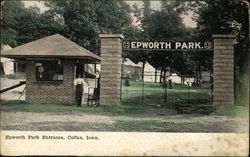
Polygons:
[[15,112],[81,112],[102,115],[168,115],[175,114],[173,108],[161,107],[158,108],[154,105],[135,105],[135,104],[122,104],[122,105],[101,105],[100,107],[89,107],[83,104],[81,107],[65,104],[30,104],[24,101],[2,101],[2,111],[15,111]]

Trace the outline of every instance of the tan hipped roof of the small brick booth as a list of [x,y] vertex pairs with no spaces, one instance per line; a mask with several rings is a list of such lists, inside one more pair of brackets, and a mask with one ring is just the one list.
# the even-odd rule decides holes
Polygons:
[[100,61],[101,58],[60,34],[38,39],[8,51],[1,52],[8,58],[73,58]]

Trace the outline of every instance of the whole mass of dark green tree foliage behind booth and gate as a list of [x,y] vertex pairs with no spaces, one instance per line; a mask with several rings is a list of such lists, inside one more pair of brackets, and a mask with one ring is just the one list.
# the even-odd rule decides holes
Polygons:
[[[161,7],[151,8],[150,0],[141,7],[126,1],[67,0],[45,1],[49,10],[25,8],[22,1],[1,3],[1,45],[12,47],[52,35],[62,34],[77,44],[99,54],[98,34],[121,33],[125,39],[212,40],[212,34],[234,34],[236,82],[246,75],[249,49],[248,8],[240,0],[161,0]],[[182,15],[192,12],[197,28],[188,28]],[[123,53],[135,62],[151,63],[155,68],[171,67],[179,74],[212,72],[213,54],[188,52],[138,51]],[[240,83],[241,84],[241,83]],[[244,85],[242,85],[244,86]]]

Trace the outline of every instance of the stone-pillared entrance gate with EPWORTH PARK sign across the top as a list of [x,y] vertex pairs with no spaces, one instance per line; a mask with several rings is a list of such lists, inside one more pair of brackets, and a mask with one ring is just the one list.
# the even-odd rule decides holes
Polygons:
[[[213,50],[213,105],[234,104],[234,36],[213,35],[211,42],[151,42],[123,41],[121,34],[100,34],[101,39],[101,78],[100,104],[117,105],[121,103],[122,87],[122,49],[212,49]],[[144,46],[143,46],[144,44]],[[145,48],[147,45],[147,48]],[[125,82],[126,83],[126,82]],[[145,84],[143,85],[145,88]],[[149,85],[152,86],[152,85]],[[155,85],[153,85],[155,86]],[[168,90],[166,90],[168,91]],[[165,90],[163,90],[163,93]],[[168,93],[169,94],[169,93]],[[190,93],[189,93],[190,94]],[[189,95],[190,96],[190,95]],[[171,96],[168,95],[168,98]],[[164,100],[164,99],[163,99]]]

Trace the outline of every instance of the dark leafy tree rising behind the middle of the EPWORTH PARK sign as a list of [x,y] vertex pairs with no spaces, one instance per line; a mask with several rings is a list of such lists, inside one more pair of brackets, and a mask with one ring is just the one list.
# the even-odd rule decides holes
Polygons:
[[[181,5],[179,1],[161,1],[162,9],[154,11],[148,18],[147,32],[151,40],[178,40],[184,39],[190,32],[184,26],[180,17],[181,10],[177,9]],[[180,74],[185,74],[187,66],[186,58],[181,52],[151,52],[150,63],[155,68],[163,72],[163,81],[167,67],[177,70]],[[182,60],[181,64],[178,61]],[[190,64],[189,64],[190,65]],[[182,67],[182,68],[180,68]]]

